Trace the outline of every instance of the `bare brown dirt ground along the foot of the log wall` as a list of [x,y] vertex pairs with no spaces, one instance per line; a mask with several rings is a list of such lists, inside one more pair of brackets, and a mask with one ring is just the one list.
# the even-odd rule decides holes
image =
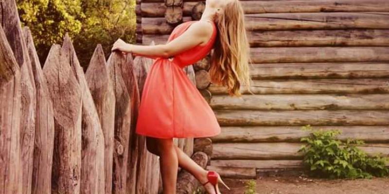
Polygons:
[[[225,179],[231,191],[243,194],[247,179]],[[262,177],[257,179],[257,194],[389,194],[389,178],[328,180],[306,177]],[[221,188],[222,185],[219,186]]]

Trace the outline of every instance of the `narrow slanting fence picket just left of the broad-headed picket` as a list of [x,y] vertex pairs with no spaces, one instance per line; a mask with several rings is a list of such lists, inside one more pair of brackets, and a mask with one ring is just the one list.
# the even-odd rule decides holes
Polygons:
[[54,146],[53,102],[28,27],[23,29],[35,79],[35,145],[32,173],[32,194],[51,193]]

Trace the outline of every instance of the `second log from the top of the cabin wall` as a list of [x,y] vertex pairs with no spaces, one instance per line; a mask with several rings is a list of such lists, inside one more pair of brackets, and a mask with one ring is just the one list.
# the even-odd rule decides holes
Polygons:
[[[192,17],[183,17],[183,22],[190,20]],[[170,34],[174,29],[164,17],[142,17],[141,23],[143,34]],[[248,31],[388,29],[389,15],[385,12],[247,14],[245,26]]]

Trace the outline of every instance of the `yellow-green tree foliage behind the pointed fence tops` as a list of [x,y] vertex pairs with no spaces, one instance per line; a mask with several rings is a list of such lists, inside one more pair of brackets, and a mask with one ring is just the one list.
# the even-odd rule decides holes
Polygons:
[[39,59],[69,33],[86,67],[97,44],[109,54],[118,39],[135,42],[135,0],[17,0],[23,25],[30,27]]

